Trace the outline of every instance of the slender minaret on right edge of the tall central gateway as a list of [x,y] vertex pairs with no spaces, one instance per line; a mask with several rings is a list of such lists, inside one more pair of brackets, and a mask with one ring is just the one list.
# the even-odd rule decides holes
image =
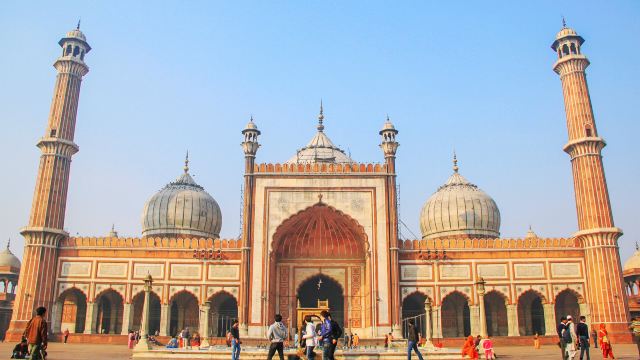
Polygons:
[[393,126],[387,115],[382,130],[382,143],[380,147],[384,153],[385,164],[387,165],[387,218],[389,219],[389,263],[391,277],[391,330],[396,339],[402,338],[402,313],[400,310],[400,263],[398,260],[398,203],[396,197],[396,151],[400,144],[396,141],[398,130]]

